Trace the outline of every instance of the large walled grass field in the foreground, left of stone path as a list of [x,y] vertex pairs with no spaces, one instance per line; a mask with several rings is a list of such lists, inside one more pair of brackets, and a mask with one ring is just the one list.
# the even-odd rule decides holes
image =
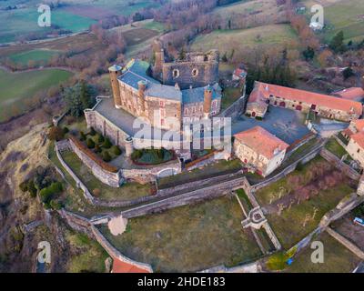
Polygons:
[[112,236],[106,227],[102,232],[122,254],[151,264],[155,272],[194,272],[261,256],[241,219],[237,199],[222,197],[131,219],[121,236]]

